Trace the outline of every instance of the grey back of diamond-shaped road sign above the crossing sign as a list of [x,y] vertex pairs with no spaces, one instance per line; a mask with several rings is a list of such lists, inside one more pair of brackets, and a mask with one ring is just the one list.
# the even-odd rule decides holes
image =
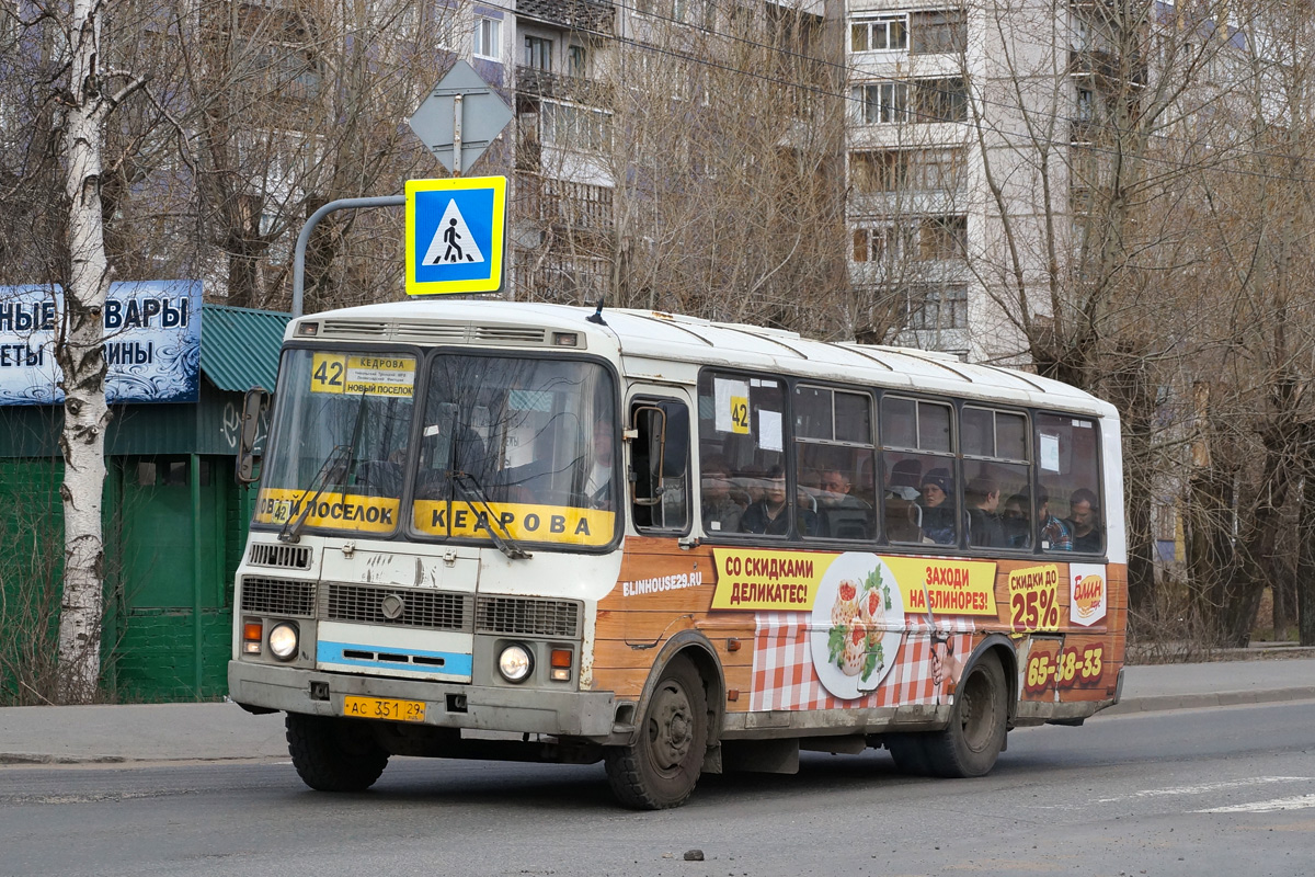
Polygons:
[[463,171],[484,155],[484,150],[497,139],[513,116],[512,108],[498,97],[493,87],[468,63],[458,60],[409,120],[416,135],[448,171],[455,167],[452,146],[456,138],[452,134],[458,95],[462,96],[460,168]]

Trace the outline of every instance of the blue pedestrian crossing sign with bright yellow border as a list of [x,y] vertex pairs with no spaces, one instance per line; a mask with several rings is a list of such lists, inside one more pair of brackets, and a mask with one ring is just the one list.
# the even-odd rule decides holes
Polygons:
[[406,295],[502,287],[506,178],[406,180]]

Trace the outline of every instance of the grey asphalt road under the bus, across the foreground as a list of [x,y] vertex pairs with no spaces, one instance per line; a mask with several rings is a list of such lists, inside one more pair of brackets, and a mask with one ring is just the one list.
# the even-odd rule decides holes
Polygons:
[[1315,702],[1016,731],[984,780],[810,753],[665,813],[600,767],[394,759],[355,795],[281,763],[0,769],[0,874],[302,873],[1311,874]]

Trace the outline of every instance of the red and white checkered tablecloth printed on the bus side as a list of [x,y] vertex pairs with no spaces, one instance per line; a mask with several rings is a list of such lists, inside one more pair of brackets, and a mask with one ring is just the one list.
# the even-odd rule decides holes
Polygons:
[[[931,682],[931,630],[924,618],[906,615],[905,632],[894,663],[871,694],[852,701],[832,696],[818,680],[813,667],[809,636],[810,613],[757,614],[753,636],[753,690],[748,709],[757,710],[832,710],[846,707],[934,703]],[[936,628],[951,632],[955,655],[965,656],[972,648],[970,618],[936,619]],[[826,656],[823,656],[826,660]]]

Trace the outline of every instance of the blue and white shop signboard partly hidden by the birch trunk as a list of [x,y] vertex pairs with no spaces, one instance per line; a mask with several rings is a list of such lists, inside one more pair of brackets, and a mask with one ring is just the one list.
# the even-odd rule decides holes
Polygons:
[[[64,313],[57,285],[0,287],[0,405],[58,405],[54,339]],[[200,388],[201,284],[109,284],[103,312],[110,402],[195,402]]]

